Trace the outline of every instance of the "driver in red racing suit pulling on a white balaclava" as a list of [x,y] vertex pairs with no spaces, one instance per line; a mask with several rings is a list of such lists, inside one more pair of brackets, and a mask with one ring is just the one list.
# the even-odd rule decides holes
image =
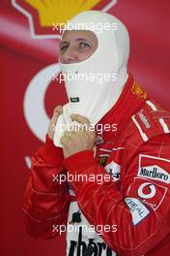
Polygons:
[[[45,144],[32,158],[23,204],[27,231],[50,239],[65,227],[69,256],[166,255],[170,114],[128,74],[128,30],[118,18],[88,11],[69,24],[59,53],[63,74],[116,74],[116,80],[65,77],[69,102],[55,108]],[[95,130],[61,131],[71,122]]]

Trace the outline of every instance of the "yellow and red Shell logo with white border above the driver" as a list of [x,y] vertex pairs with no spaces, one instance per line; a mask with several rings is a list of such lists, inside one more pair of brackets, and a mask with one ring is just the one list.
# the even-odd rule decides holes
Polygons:
[[87,10],[109,11],[117,0],[12,0],[14,8],[28,17],[33,38],[61,38],[53,31],[53,24],[67,23],[80,12]]

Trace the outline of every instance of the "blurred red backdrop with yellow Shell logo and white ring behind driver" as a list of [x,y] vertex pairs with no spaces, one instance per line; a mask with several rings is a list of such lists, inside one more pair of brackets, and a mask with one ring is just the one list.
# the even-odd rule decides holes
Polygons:
[[30,238],[21,210],[30,158],[42,145],[52,110],[67,102],[59,71],[59,31],[83,10],[119,17],[131,40],[128,71],[170,111],[170,1],[0,0],[1,252],[3,256],[65,255],[65,235]]

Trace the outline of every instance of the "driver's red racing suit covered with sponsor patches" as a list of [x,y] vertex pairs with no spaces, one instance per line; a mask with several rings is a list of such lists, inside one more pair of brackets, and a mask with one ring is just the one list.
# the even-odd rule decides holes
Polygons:
[[[62,148],[46,136],[36,151],[24,193],[28,233],[49,239],[59,235],[55,227],[73,223],[78,230],[67,232],[69,256],[165,255],[170,250],[170,114],[129,75],[118,102],[99,124],[107,125],[101,134],[97,130],[95,150],[64,159]],[[88,178],[55,178],[66,174]],[[83,235],[73,212],[80,212],[95,232]],[[97,227],[104,229],[99,233]]]

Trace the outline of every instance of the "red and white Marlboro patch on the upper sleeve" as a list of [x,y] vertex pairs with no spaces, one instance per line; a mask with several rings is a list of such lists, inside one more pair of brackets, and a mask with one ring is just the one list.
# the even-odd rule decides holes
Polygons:
[[140,155],[137,176],[151,178],[170,184],[170,174],[165,170],[165,168],[170,170],[170,161],[168,159]]

